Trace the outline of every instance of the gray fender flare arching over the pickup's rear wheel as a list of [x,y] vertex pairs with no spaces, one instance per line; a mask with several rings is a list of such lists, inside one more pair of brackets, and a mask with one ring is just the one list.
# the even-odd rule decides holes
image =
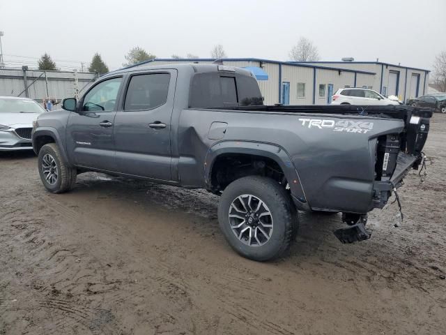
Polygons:
[[298,171],[289,154],[277,144],[247,141],[222,141],[215,143],[209,148],[204,163],[205,184],[209,191],[215,191],[213,176],[215,176],[215,169],[218,167],[216,163],[222,158],[238,155],[265,158],[276,163],[289,184],[291,195],[296,205],[300,209],[309,209]]

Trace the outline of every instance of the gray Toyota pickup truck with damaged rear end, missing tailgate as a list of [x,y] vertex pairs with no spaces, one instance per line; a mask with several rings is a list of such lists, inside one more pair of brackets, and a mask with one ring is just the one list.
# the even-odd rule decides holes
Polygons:
[[430,110],[408,106],[267,106],[252,73],[214,64],[135,66],[100,77],[33,128],[48,191],[82,172],[148,179],[221,195],[235,251],[270,260],[289,248],[297,209],[341,212],[343,242],[368,239],[422,163]]

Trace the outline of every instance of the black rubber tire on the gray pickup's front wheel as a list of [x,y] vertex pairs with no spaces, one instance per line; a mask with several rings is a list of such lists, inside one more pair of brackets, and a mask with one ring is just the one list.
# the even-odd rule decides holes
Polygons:
[[[56,177],[47,180],[48,174],[45,175],[44,168],[49,165],[48,160],[54,165]],[[54,162],[52,161],[54,160]],[[39,151],[38,170],[43,186],[52,193],[64,193],[70,191],[76,184],[77,170],[68,166],[63,159],[61,150],[55,143],[45,144]]]

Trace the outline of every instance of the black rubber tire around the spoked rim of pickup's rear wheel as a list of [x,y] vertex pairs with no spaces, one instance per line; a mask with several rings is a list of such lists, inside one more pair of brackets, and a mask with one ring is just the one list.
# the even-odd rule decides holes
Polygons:
[[[247,195],[252,195],[254,199],[261,200],[266,205],[263,208],[270,213],[272,228],[268,231],[270,237],[264,244],[248,245],[247,237],[245,242],[243,242],[236,236],[236,232],[233,230],[233,227],[236,225],[231,225],[230,220],[234,219],[229,218],[229,214],[233,211],[231,204],[238,201],[238,198],[242,195],[245,195],[245,198],[248,198]],[[256,200],[253,200],[254,204]],[[257,208],[257,211],[260,211],[259,208]],[[256,211],[252,215],[255,215],[254,213]],[[241,215],[245,216],[248,214]],[[247,222],[243,218],[240,218],[240,220]],[[220,229],[229,245],[243,257],[257,261],[273,260],[282,255],[289,249],[291,241],[293,241],[298,229],[297,211],[287,191],[277,181],[258,176],[237,179],[226,187],[218,206],[218,221],[220,223]],[[260,218],[257,219],[257,222],[259,221]],[[257,224],[259,225],[259,223]],[[246,227],[247,225],[245,223]],[[260,227],[263,228],[263,223]],[[243,226],[240,229],[243,230]],[[259,239],[261,239],[261,236],[266,238],[265,234],[260,234],[260,229],[252,228],[252,230],[256,234],[259,233]],[[251,233],[252,230],[248,230],[248,232]],[[263,228],[263,231],[266,231],[266,228]],[[254,241],[254,243],[257,242]]]

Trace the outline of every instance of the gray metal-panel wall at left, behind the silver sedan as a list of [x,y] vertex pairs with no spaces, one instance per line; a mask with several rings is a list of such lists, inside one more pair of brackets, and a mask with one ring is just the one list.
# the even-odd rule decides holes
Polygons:
[[83,93],[97,78],[95,73],[0,68],[0,96],[23,96],[42,101],[61,101]]

